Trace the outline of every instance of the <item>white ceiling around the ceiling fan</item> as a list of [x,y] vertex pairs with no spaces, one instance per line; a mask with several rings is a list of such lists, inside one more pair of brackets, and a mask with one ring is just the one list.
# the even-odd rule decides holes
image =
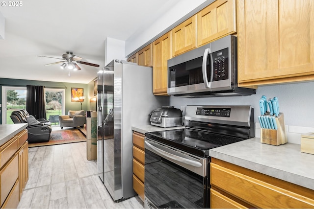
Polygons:
[[[89,83],[105,66],[106,37],[126,41],[154,23],[180,0],[26,0],[1,6],[5,39],[0,39],[0,78]],[[61,70],[53,58],[66,51],[99,68]]]

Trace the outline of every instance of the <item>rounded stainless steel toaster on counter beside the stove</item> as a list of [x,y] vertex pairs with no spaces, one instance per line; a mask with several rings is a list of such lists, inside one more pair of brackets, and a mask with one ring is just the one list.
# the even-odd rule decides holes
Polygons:
[[160,126],[163,128],[182,126],[183,118],[182,111],[173,106],[162,106],[155,109],[151,113],[151,125]]

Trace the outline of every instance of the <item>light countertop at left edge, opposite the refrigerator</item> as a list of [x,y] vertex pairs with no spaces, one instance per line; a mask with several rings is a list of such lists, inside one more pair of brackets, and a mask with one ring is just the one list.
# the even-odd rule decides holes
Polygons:
[[27,127],[27,123],[2,124],[0,125],[0,145],[4,144],[23,129]]

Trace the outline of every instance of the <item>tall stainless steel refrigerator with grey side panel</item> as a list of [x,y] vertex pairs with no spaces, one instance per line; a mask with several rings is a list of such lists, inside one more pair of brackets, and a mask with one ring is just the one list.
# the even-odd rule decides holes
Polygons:
[[98,72],[98,172],[114,201],[135,195],[131,126],[150,124],[150,113],[169,104],[153,95],[152,76],[152,68],[118,60]]

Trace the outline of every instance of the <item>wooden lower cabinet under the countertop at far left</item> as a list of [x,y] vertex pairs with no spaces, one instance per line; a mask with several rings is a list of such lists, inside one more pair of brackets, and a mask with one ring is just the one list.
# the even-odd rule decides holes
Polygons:
[[17,208],[28,180],[27,130],[0,146],[0,206]]

